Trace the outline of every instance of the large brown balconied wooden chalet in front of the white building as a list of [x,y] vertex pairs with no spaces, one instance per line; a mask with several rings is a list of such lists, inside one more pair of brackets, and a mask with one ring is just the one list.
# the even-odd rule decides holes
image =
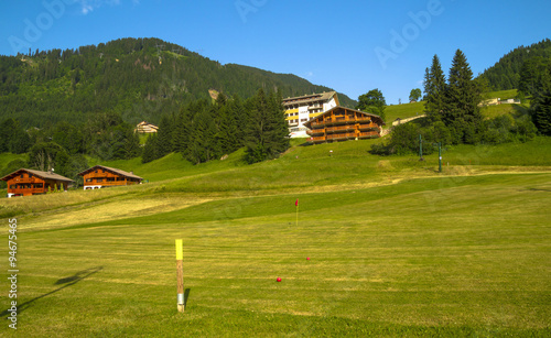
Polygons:
[[385,122],[379,116],[337,106],[304,123],[310,142],[325,143],[346,140],[376,139]]

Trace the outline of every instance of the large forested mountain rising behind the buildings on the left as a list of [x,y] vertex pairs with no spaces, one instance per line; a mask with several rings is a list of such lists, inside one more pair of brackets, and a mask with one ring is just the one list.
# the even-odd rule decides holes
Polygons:
[[[132,124],[159,123],[182,105],[210,99],[212,89],[248,98],[259,88],[283,97],[332,90],[290,74],[220,65],[159,39],[0,56],[0,120],[17,118],[24,127],[80,124],[106,111]],[[356,103],[338,97],[344,106]]]

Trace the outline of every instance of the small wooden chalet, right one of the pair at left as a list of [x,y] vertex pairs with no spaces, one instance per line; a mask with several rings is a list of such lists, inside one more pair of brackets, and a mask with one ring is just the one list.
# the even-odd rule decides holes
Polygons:
[[96,165],[78,175],[84,178],[84,189],[99,189],[108,186],[140,184],[143,178],[115,167]]

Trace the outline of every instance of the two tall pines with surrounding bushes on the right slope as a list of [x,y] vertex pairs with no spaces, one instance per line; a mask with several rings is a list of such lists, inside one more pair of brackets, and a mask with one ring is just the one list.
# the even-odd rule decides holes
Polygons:
[[[473,78],[461,50],[455,52],[447,78],[440,58],[434,55],[431,66],[425,69],[423,86],[426,118],[395,127],[387,142],[374,144],[372,153],[418,152],[420,135],[429,144],[498,144],[526,142],[538,132],[532,122],[533,112],[521,107],[514,115],[483,119],[478,103],[484,83]],[[544,133],[541,129],[540,132]],[[424,154],[433,151],[432,146],[423,146]]]

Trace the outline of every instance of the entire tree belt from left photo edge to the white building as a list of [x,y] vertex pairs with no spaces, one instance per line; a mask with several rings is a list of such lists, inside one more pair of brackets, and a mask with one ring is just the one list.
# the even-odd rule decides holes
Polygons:
[[90,157],[111,161],[142,156],[147,163],[175,152],[198,164],[245,148],[244,161],[252,164],[278,157],[289,148],[281,95],[263,89],[246,100],[220,94],[214,102],[190,102],[179,113],[163,116],[159,127],[159,132],[140,146],[136,127],[117,112],[98,113],[78,126],[61,121],[41,129],[24,129],[20,121],[8,118],[0,123],[0,153],[26,153],[28,160],[10,162],[0,174],[20,167],[55,168],[57,174],[79,182],[78,173],[88,167]]

